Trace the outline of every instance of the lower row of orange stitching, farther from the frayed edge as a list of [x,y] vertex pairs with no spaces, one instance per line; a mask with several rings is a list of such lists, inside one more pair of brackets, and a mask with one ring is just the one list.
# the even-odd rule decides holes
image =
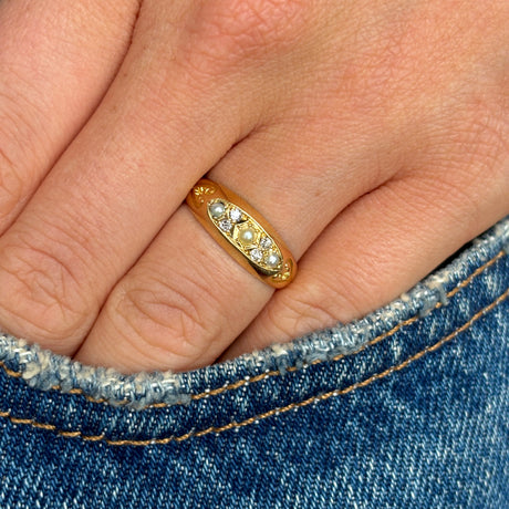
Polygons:
[[304,399],[304,401],[299,402],[299,403],[290,403],[289,405],[285,405],[285,406],[281,406],[281,407],[278,407],[278,408],[272,408],[271,411],[264,412],[263,414],[256,415],[254,417],[249,417],[249,418],[247,418],[245,420],[241,420],[240,423],[232,422],[232,423],[226,424],[224,426],[217,426],[217,427],[216,426],[210,426],[210,427],[208,427],[206,429],[202,429],[201,432],[189,432],[189,433],[186,433],[185,435],[180,435],[180,436],[172,435],[172,436],[165,437],[165,438],[152,438],[152,439],[147,439],[147,440],[129,440],[129,439],[122,439],[122,440],[116,439],[116,440],[114,440],[114,439],[105,438],[104,434],[102,434],[102,435],[83,435],[82,432],[65,432],[65,430],[56,429],[56,426],[53,425],[53,424],[41,424],[41,423],[38,423],[38,422],[33,420],[33,419],[23,419],[23,418],[19,418],[19,417],[12,417],[10,415],[10,412],[0,412],[0,417],[6,417],[13,424],[28,424],[28,425],[30,425],[30,426],[32,426],[34,428],[41,428],[41,429],[46,429],[46,430],[51,430],[51,432],[56,432],[58,435],[60,435],[62,437],[66,437],[66,438],[80,437],[80,438],[82,438],[83,440],[86,440],[86,442],[105,442],[107,445],[112,445],[112,446],[124,446],[124,445],[148,446],[148,445],[156,445],[156,444],[157,445],[164,445],[164,444],[169,444],[170,442],[177,442],[177,443],[178,442],[184,442],[184,440],[187,440],[187,439],[189,439],[191,437],[201,437],[201,436],[205,436],[205,435],[209,435],[210,433],[220,434],[220,433],[227,432],[229,429],[241,428],[241,427],[249,426],[250,424],[257,423],[258,420],[266,419],[268,417],[272,417],[273,415],[283,414],[283,413],[287,413],[287,412],[292,411],[294,408],[302,408],[302,407],[311,405],[313,403],[326,401],[326,399],[329,399],[331,397],[343,396],[343,395],[345,395],[347,393],[351,393],[352,391],[355,391],[355,389],[361,388],[361,387],[365,387],[365,386],[372,384],[373,382],[375,382],[377,380],[384,378],[384,377],[386,377],[387,375],[389,375],[392,373],[396,373],[396,372],[405,368],[406,366],[408,366],[413,362],[418,361],[420,357],[423,357],[424,355],[428,354],[429,352],[434,352],[434,351],[438,350],[440,346],[443,346],[445,343],[447,343],[448,341],[450,341],[454,337],[456,337],[461,332],[465,332],[480,316],[482,316],[484,314],[486,314],[489,311],[491,311],[494,308],[496,308],[498,304],[500,304],[500,302],[506,300],[508,297],[509,297],[509,289],[506,290],[498,299],[496,299],[494,302],[491,302],[491,304],[487,305],[486,308],[481,309],[476,314],[474,314],[468,322],[464,323],[461,326],[456,329],[454,332],[451,332],[450,334],[446,335],[445,337],[443,337],[437,343],[435,343],[435,344],[433,344],[430,346],[427,346],[424,350],[422,350],[420,352],[417,352],[416,354],[409,356],[406,361],[403,361],[401,364],[397,364],[396,366],[388,367],[387,370],[385,370],[385,371],[383,371],[381,373],[376,373],[376,374],[370,376],[368,378],[366,378],[366,380],[364,380],[362,382],[357,382],[355,384],[349,385],[345,388],[331,391],[329,393],[324,393],[324,394],[321,394],[319,396],[313,396],[313,397],[310,397],[310,398]]

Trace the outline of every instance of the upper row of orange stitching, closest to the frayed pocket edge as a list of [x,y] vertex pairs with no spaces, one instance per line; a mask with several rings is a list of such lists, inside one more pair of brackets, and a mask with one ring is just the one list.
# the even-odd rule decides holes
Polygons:
[[[466,279],[464,279],[461,282],[459,282],[453,290],[450,290],[447,294],[446,294],[446,298],[447,299],[450,299],[451,297],[454,297],[456,293],[458,293],[461,289],[464,289],[465,287],[467,287],[477,276],[481,274],[484,271],[486,271],[489,267],[491,267],[494,263],[496,263],[500,258],[502,258],[503,256],[506,254],[506,252],[503,251],[503,249],[501,249],[497,254],[495,254],[494,258],[491,258],[490,260],[488,260],[486,263],[484,263],[482,266],[478,267],[470,276],[468,276]],[[430,312],[442,308],[444,304],[442,302],[437,302],[435,304],[435,307],[430,310]],[[391,329],[389,331],[387,332],[384,332],[383,334],[380,334],[377,335],[376,337],[374,337],[373,340],[368,341],[367,343],[363,344],[359,350],[350,353],[350,354],[339,354],[334,357],[332,357],[331,360],[329,361],[322,361],[322,360],[315,360],[309,364],[304,364],[302,366],[290,366],[290,367],[287,367],[287,372],[297,372],[297,371],[300,371],[302,368],[304,368],[307,365],[315,365],[315,364],[321,364],[322,362],[337,362],[340,361],[341,359],[345,357],[346,355],[356,355],[357,353],[361,353],[363,352],[365,349],[367,349],[368,346],[372,346],[376,343],[378,343],[380,341],[383,341],[387,337],[391,337],[392,335],[394,335],[397,331],[399,331],[399,329],[406,326],[406,325],[411,325],[412,323],[416,322],[417,320],[419,320],[420,316],[418,314],[407,319],[407,320],[404,320],[403,322],[399,322],[397,325],[395,325],[393,329]],[[9,376],[12,376],[12,377],[15,377],[15,378],[19,378],[22,376],[22,373],[21,372],[17,372],[17,371],[13,371],[13,370],[10,370],[2,361],[0,361],[0,367],[3,368],[3,371],[9,375]],[[254,376],[250,376],[248,378],[242,378],[242,380],[239,380],[237,382],[233,382],[233,383],[230,383],[228,385],[224,385],[221,387],[217,387],[217,388],[212,388],[212,389],[206,389],[202,393],[199,393],[199,394],[191,394],[190,395],[190,398],[193,401],[199,401],[199,399],[204,399],[206,397],[209,397],[209,396],[217,396],[219,394],[222,394],[225,392],[228,392],[228,391],[233,391],[236,388],[239,388],[239,387],[242,387],[245,385],[248,385],[248,384],[252,384],[252,383],[257,383],[257,382],[261,382],[266,378],[269,378],[269,377],[272,377],[272,376],[280,376],[281,375],[281,371],[279,370],[274,370],[274,371],[269,371],[269,372],[266,372],[266,373],[260,373],[258,375],[254,375]],[[51,387],[53,391],[61,391],[62,387],[60,385],[54,385],[53,387]],[[105,398],[94,398],[92,396],[89,396],[84,393],[84,391],[82,388],[72,388],[71,391],[67,391],[66,394],[80,394],[82,395],[86,401],[91,402],[91,403],[107,403],[107,399]],[[128,404],[129,401],[128,399],[125,399],[123,402],[120,402],[118,404],[120,405],[126,405]],[[143,408],[141,408],[141,411],[143,409],[147,409],[147,408],[165,408],[167,407],[168,404],[167,403],[153,403],[150,405],[147,405]]]

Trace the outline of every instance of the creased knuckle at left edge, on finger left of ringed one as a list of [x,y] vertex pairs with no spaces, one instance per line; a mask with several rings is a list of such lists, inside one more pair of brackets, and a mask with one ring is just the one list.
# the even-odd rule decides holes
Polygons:
[[[0,315],[18,334],[34,341],[82,336],[90,312],[72,263],[58,250],[25,241],[2,249],[0,262]],[[12,329],[11,326],[11,329]]]

